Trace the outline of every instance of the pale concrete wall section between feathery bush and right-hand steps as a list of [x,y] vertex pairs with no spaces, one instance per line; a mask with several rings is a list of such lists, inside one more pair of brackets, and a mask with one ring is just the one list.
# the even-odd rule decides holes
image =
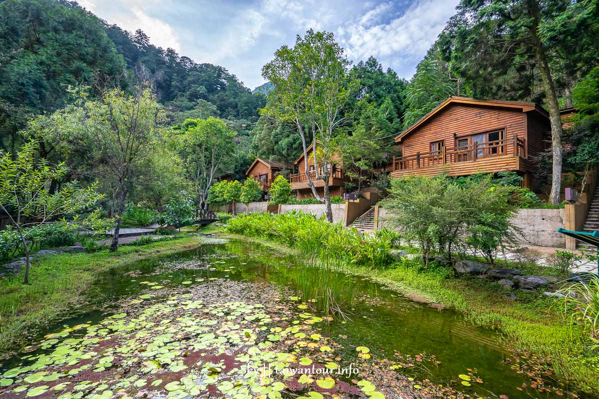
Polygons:
[[521,209],[512,224],[522,230],[523,245],[565,247],[565,236],[557,232],[565,227],[564,209]]

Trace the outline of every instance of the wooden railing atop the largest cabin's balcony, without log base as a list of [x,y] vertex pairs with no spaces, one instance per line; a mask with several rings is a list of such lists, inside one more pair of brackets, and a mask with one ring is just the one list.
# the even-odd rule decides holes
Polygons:
[[515,137],[507,140],[497,140],[462,145],[460,147],[443,148],[441,151],[416,153],[406,157],[393,158],[393,170],[419,169],[421,167],[447,165],[488,159],[512,154],[513,156],[526,157],[524,139]]

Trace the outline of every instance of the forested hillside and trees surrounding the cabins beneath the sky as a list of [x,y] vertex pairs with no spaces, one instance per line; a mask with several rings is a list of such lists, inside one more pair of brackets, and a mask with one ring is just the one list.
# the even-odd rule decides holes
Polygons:
[[[292,163],[316,141],[319,156],[343,158],[349,190],[384,190],[388,178],[373,170],[400,155],[395,135],[449,96],[523,100],[551,116],[535,161],[555,204],[562,172],[582,176],[599,161],[598,14],[597,0],[462,0],[409,80],[374,56],[347,59],[332,33],[298,32],[273,49],[268,83],[250,90],[74,1],[3,0],[0,149],[33,141],[38,159],[67,170],[51,191],[95,184],[114,217],[183,197],[205,208],[219,176],[243,181],[256,157]],[[289,72],[300,56],[305,68]],[[317,70],[317,81],[301,80]],[[564,130],[559,109],[569,106],[579,113]]]

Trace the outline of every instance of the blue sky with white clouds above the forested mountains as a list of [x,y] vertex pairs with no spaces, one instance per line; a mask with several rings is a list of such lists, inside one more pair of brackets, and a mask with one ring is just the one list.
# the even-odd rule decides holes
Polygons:
[[108,23],[198,63],[224,66],[253,89],[262,66],[312,28],[335,33],[354,63],[376,57],[411,78],[458,0],[79,0]]

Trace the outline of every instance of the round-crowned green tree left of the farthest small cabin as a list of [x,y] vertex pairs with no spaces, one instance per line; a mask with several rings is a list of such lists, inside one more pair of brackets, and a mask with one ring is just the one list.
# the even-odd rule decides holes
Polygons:
[[208,191],[214,178],[232,161],[237,133],[225,121],[214,117],[188,119],[173,133],[187,164],[198,206],[208,209]]

